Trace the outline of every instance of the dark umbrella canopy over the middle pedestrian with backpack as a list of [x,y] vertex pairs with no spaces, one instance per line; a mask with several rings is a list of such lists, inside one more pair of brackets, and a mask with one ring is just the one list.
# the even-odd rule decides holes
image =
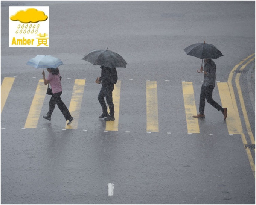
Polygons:
[[111,50],[93,50],[82,58],[93,65],[102,65],[108,68],[126,68],[127,63],[122,56]]

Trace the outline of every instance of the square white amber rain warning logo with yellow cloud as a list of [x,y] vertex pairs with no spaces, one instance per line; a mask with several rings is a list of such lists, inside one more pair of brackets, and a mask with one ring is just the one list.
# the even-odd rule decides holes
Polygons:
[[49,6],[9,6],[9,46],[49,47]]

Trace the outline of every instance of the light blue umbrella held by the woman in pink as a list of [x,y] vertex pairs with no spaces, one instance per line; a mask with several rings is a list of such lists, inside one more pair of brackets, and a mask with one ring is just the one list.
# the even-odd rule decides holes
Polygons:
[[63,65],[63,62],[51,55],[37,55],[35,58],[31,58],[27,65],[34,68],[58,68],[59,65]]

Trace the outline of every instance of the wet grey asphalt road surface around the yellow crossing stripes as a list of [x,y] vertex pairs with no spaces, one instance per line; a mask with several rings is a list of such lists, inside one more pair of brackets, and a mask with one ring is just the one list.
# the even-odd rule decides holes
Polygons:
[[[8,47],[8,6],[50,6],[50,47]],[[223,115],[206,103],[200,133],[187,134],[181,82],[193,82],[198,111],[203,76],[196,73],[201,60],[183,49],[204,40],[223,53],[216,81],[227,82],[232,68],[255,53],[255,2],[2,1],[1,82],[16,78],[1,113],[1,203],[255,203],[247,153]],[[107,47],[128,65],[117,68],[119,129],[104,132],[94,83],[100,68],[81,59]],[[37,128],[22,129],[41,78],[42,70],[26,65],[36,54],[64,62],[66,105],[75,79],[86,78],[78,129],[62,130],[58,108],[50,123],[40,117]],[[253,68],[254,61],[241,75],[244,93]],[[146,132],[146,80],[157,81],[159,132]],[[255,109],[245,98],[255,136]],[[213,99],[221,102],[217,88]]]

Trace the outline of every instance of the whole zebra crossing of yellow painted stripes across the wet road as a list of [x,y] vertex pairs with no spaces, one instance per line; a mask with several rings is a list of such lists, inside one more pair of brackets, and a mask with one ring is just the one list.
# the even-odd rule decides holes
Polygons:
[[[14,84],[14,77],[5,77],[1,85],[1,113],[4,109],[5,102],[8,99],[8,95],[11,92],[11,88]],[[75,118],[71,125],[64,125],[64,129],[78,129],[82,99],[85,93],[86,79],[75,79],[72,96],[70,99],[69,111],[70,114]],[[114,85],[113,91],[113,102],[115,105],[115,121],[107,121],[105,131],[119,131],[119,114],[122,113],[120,110],[120,95],[121,95],[122,81],[119,80]],[[159,119],[158,119],[158,87],[157,81],[146,80],[145,82],[145,96],[146,96],[146,132],[159,132]],[[230,95],[229,86],[225,82],[218,82],[219,97],[221,98],[222,106],[229,105],[229,117],[226,120],[227,129],[229,134],[241,133],[241,122],[238,119],[238,109],[233,106],[232,97]],[[187,125],[187,133],[200,133],[200,126],[197,118],[193,118],[192,115],[197,114],[197,105],[195,103],[195,94],[192,82],[181,82],[181,89],[183,95],[183,108],[184,121]],[[26,128],[37,128],[38,120],[41,119],[41,110],[43,107],[44,99],[46,97],[47,86],[44,85],[42,79],[39,79],[35,94],[30,105],[29,112],[27,114],[26,122],[24,122],[24,129]],[[232,107],[230,107],[232,105]],[[170,133],[170,132],[168,132]]]

